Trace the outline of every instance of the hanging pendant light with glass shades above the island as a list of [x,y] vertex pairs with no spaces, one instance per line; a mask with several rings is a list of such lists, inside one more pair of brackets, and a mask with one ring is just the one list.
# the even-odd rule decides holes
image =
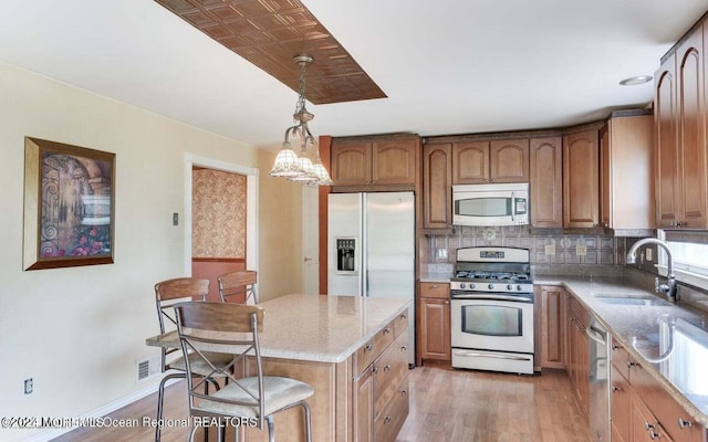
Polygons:
[[[295,125],[285,130],[283,146],[268,175],[311,186],[332,186],[334,182],[320,159],[317,140],[308,126],[314,115],[305,108],[305,67],[313,60],[309,55],[298,55],[292,61],[300,65],[300,91],[295,113],[292,115]],[[300,139],[299,152],[290,145],[291,136]]]

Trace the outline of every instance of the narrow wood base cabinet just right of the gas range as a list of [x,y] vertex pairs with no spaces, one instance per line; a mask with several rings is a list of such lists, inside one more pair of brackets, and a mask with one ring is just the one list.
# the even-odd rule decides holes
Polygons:
[[565,368],[565,322],[568,294],[561,286],[543,285],[534,290],[541,301],[541,368]]

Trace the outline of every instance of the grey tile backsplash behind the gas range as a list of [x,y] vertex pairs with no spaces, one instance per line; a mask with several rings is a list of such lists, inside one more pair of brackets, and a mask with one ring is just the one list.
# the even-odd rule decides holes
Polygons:
[[603,230],[564,232],[516,225],[457,227],[451,233],[428,235],[420,251],[420,261],[424,265],[454,264],[457,249],[485,245],[529,249],[535,273],[568,271],[577,274],[589,271],[610,275],[621,272],[617,266],[625,261],[624,239]]

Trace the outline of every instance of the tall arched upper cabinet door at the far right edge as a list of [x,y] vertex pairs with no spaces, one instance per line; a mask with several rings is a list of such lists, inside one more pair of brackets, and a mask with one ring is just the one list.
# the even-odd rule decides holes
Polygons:
[[704,105],[704,35],[698,29],[679,46],[678,148],[683,217],[678,227],[706,228],[706,115]]

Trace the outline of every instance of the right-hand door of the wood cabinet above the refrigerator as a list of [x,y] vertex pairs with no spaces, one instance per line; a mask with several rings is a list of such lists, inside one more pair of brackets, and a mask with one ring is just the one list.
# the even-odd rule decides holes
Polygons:
[[374,185],[415,185],[418,139],[374,141],[372,180]]

